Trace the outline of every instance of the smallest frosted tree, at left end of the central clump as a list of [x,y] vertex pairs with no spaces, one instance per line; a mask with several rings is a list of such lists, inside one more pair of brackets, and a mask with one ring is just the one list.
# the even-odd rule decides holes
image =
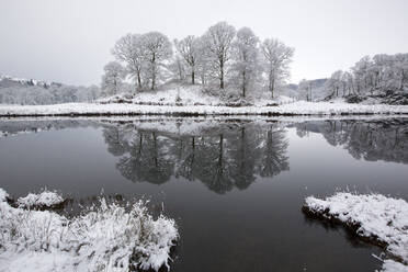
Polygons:
[[103,68],[102,90],[105,94],[116,94],[121,90],[122,79],[125,76],[124,67],[117,61],[111,61]]

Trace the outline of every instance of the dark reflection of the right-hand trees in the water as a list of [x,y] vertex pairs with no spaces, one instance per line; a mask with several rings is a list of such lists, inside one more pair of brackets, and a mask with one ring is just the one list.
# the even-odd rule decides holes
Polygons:
[[295,124],[297,135],[321,134],[332,146],[342,146],[355,159],[408,163],[408,120],[309,121]]

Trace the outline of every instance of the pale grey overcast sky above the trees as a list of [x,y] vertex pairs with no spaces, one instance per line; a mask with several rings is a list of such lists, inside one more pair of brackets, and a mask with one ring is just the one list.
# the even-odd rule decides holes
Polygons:
[[99,84],[122,35],[181,38],[218,21],[295,47],[292,82],[408,52],[408,0],[0,0],[0,75]]

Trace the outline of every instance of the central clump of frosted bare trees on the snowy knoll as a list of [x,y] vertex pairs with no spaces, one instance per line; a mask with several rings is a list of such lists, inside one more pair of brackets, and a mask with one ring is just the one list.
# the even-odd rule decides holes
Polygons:
[[159,33],[127,34],[112,49],[115,61],[105,66],[103,89],[117,92],[124,78],[136,90],[155,90],[158,82],[179,80],[192,84],[227,84],[240,90],[264,87],[273,97],[288,76],[294,49],[275,38],[263,42],[249,29],[238,31],[226,22],[211,26],[202,36],[170,39]]

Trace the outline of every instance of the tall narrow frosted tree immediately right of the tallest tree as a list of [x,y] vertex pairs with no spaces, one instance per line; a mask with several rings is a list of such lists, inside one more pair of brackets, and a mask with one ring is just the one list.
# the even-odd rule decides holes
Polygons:
[[243,98],[246,97],[248,88],[253,87],[253,82],[260,70],[258,61],[258,44],[259,38],[249,27],[240,29],[237,32],[237,38],[233,43],[233,70],[236,73]]

